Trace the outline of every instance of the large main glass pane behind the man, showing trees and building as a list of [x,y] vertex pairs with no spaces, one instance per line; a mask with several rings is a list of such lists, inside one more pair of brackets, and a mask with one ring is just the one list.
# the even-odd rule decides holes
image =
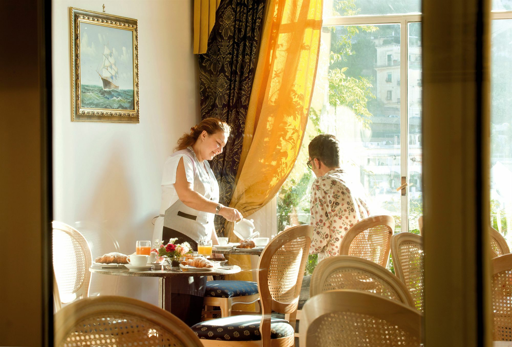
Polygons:
[[[308,144],[335,135],[341,165],[365,188],[371,214],[400,231],[400,25],[324,27],[301,153],[278,196],[278,230],[309,223]],[[308,264],[313,267],[314,264]]]

